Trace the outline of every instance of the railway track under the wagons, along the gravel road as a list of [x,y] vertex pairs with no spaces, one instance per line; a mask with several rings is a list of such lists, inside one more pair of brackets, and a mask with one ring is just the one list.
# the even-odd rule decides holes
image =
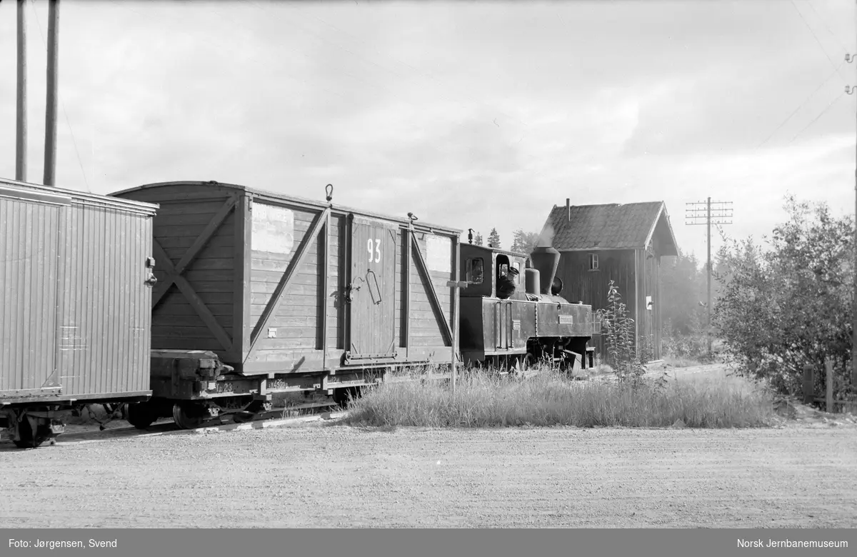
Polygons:
[[[320,420],[335,420],[340,417],[347,416],[348,412],[341,410],[339,406],[334,408],[315,408],[306,411],[303,415],[284,416],[284,410],[278,409],[265,412],[261,418],[251,422],[233,422],[228,419],[213,418],[205,422],[199,428],[183,429],[179,428],[175,422],[164,420],[155,422],[146,429],[137,429],[134,427],[118,427],[105,428],[102,430],[78,430],[57,436],[50,444],[45,443],[44,446],[75,446],[87,443],[99,443],[117,439],[132,439],[139,437],[153,437],[156,435],[175,435],[175,434],[212,434],[227,431],[241,431],[245,429],[264,429],[264,428],[283,428],[291,425],[297,425],[305,422],[317,422]],[[292,410],[295,414],[297,411]],[[6,451],[21,451],[15,447],[8,435],[3,433],[0,436],[0,452]]]

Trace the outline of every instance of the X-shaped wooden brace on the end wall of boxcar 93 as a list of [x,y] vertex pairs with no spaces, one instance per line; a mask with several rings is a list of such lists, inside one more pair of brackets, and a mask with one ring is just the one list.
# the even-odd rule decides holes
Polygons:
[[178,290],[180,290],[188,299],[190,307],[194,308],[195,312],[199,314],[200,319],[206,324],[209,330],[213,332],[214,337],[218,339],[218,342],[227,352],[232,350],[232,338],[227,332],[225,332],[224,328],[220,326],[217,318],[208,310],[206,303],[202,301],[193,286],[190,285],[187,279],[184,279],[182,274],[188,269],[190,264],[193,263],[196,256],[200,254],[202,249],[205,248],[214,233],[218,231],[219,226],[223,224],[223,221],[229,216],[232,209],[235,208],[237,201],[237,195],[231,195],[229,199],[226,200],[223,207],[220,207],[218,212],[215,213],[211,221],[206,225],[206,228],[188,248],[188,251],[184,253],[182,259],[178,261],[176,266],[173,266],[169,255],[166,254],[166,251],[161,247],[158,240],[153,240],[155,261],[158,261],[159,267],[163,268],[165,273],[167,273],[167,279],[159,284],[158,289],[153,292],[152,309],[154,310],[154,308],[158,306],[159,302],[164,299],[164,296],[167,291],[170,290],[171,286],[176,284]]

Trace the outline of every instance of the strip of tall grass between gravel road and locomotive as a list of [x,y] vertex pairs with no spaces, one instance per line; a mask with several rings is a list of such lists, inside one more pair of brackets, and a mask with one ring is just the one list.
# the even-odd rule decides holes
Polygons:
[[762,390],[727,381],[669,380],[637,386],[570,380],[544,371],[527,380],[465,372],[455,396],[445,382],[384,383],[351,403],[345,422],[364,426],[752,428],[776,421]]

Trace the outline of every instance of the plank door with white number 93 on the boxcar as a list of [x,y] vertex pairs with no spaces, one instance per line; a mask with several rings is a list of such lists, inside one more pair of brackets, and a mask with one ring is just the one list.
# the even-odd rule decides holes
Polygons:
[[398,227],[351,215],[351,359],[393,357]]

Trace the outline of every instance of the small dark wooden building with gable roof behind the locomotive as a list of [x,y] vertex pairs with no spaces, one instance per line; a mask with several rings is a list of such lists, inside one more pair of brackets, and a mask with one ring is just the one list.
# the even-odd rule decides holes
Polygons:
[[[606,308],[613,280],[634,320],[638,350],[649,342],[653,359],[661,359],[661,295],[668,295],[660,291],[661,257],[678,255],[663,201],[572,206],[566,199],[548,216],[540,245],[548,240],[560,251],[561,296]],[[602,335],[591,342],[604,354]]]

